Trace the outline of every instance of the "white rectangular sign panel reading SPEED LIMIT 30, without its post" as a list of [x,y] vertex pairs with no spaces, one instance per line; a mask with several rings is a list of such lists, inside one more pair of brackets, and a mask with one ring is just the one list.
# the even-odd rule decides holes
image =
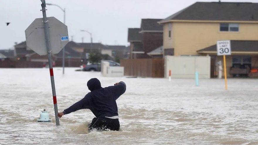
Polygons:
[[217,55],[231,55],[230,40],[217,41]]

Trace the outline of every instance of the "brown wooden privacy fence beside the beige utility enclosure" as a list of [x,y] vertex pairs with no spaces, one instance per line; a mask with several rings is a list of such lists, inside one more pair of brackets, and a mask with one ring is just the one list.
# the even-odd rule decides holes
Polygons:
[[164,78],[164,59],[121,59],[125,76]]

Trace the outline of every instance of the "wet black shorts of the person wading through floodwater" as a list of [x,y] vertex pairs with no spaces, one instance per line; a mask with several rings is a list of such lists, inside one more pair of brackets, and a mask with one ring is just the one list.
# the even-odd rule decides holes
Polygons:
[[89,123],[88,131],[91,132],[92,129],[97,129],[98,131],[118,131],[120,129],[120,123],[118,119],[111,119],[107,117],[92,119],[92,122]]

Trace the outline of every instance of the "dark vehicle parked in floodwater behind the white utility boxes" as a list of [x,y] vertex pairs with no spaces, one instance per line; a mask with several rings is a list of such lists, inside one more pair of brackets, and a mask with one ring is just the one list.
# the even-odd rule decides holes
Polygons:
[[[109,66],[120,66],[119,63],[113,60],[101,60],[101,62],[109,62]],[[97,64],[86,64],[81,66],[82,71],[101,71],[101,63]]]

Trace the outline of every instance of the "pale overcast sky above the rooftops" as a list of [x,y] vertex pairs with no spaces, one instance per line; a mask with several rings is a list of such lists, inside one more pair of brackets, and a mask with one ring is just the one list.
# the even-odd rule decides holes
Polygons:
[[[199,0],[207,1],[208,0]],[[215,1],[215,0],[213,0]],[[221,0],[222,2],[258,2],[257,0]],[[46,0],[66,9],[69,39],[107,45],[128,45],[128,28],[139,28],[142,18],[166,18],[195,3],[196,0]],[[25,41],[25,30],[35,18],[42,18],[40,0],[0,0],[0,49],[12,48]],[[258,10],[257,10],[258,11]],[[61,22],[64,13],[57,6],[47,6],[47,17]],[[6,26],[6,22],[11,22]]]

